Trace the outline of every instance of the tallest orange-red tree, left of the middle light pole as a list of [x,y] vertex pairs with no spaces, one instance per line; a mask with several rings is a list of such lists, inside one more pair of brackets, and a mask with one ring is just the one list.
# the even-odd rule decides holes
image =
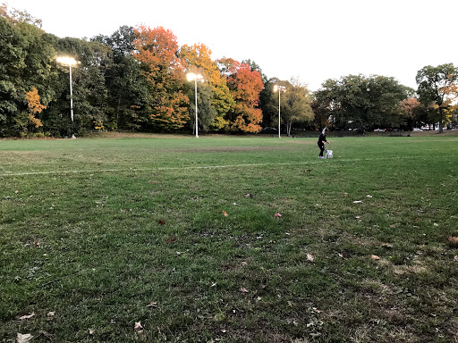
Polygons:
[[165,130],[180,129],[189,120],[189,97],[183,93],[184,68],[177,57],[178,43],[170,29],[145,25],[135,28],[134,58],[148,79],[150,118]]

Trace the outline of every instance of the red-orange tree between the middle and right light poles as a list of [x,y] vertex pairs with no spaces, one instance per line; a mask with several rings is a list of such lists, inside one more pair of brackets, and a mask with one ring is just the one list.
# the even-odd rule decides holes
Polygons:
[[259,132],[262,112],[258,108],[259,93],[263,83],[259,71],[251,71],[250,65],[232,58],[217,61],[220,71],[227,78],[227,85],[235,100],[235,108],[228,113],[231,130]]

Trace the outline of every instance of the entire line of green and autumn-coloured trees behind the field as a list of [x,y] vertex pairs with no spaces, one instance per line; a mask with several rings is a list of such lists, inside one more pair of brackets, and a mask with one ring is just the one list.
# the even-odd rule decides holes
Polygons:
[[[27,12],[0,6],[0,137],[70,137],[92,130],[251,132],[281,124],[372,130],[452,120],[458,71],[452,63],[418,72],[417,92],[394,78],[327,79],[313,94],[299,79],[267,78],[259,65],[213,60],[204,44],[179,46],[170,29],[123,26],[111,36],[58,38]],[[68,66],[73,57],[74,121]],[[281,86],[280,95],[274,86]],[[281,91],[281,90],[279,90]],[[442,128],[442,126],[441,126]]]

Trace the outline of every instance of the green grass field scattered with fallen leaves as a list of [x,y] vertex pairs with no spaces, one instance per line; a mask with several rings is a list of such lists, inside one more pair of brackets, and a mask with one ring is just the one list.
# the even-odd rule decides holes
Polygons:
[[0,140],[0,342],[457,342],[458,136],[330,141]]

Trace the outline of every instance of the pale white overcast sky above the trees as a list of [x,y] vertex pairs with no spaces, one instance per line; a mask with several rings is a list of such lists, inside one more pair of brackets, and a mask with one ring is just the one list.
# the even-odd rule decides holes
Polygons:
[[250,59],[267,78],[384,75],[417,88],[427,65],[458,66],[457,0],[2,0],[58,37],[111,36],[123,25],[171,29],[180,46],[203,43],[212,59]]

